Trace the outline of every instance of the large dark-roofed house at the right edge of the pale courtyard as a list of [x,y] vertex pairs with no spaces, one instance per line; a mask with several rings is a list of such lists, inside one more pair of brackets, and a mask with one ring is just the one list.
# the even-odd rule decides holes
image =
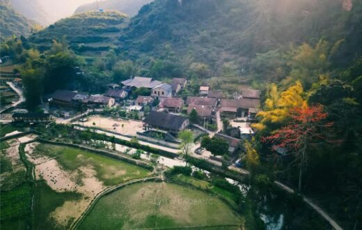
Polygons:
[[166,114],[152,111],[143,120],[143,127],[148,129],[159,129],[177,135],[178,132],[189,126],[189,119],[184,116]]

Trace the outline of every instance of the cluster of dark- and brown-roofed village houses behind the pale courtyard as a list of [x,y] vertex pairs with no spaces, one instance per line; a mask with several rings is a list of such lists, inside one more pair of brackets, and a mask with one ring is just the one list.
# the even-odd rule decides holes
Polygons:
[[[255,118],[260,107],[260,91],[244,89],[242,93],[233,95],[233,99],[223,97],[222,91],[212,91],[209,86],[200,86],[199,96],[189,96],[187,100],[177,97],[180,90],[187,85],[187,79],[173,78],[171,84],[160,82],[150,77],[134,77],[118,84],[109,84],[103,94],[86,95],[72,91],[58,90],[49,98],[49,105],[73,108],[112,107],[116,102],[127,99],[132,91],[140,88],[150,89],[150,95],[139,95],[133,105],[127,108],[129,112],[142,112],[143,107],[152,105],[159,100],[156,109],[145,118],[145,126],[155,127],[170,132],[182,130],[185,123],[182,111],[190,114],[195,110],[198,117],[207,123],[216,123],[219,111],[221,118],[237,117]],[[155,116],[155,112],[158,113]],[[157,119],[152,118],[158,117]],[[162,117],[162,118],[161,118]],[[152,121],[157,122],[152,122]],[[182,122],[181,122],[182,121]],[[162,124],[164,123],[164,124]],[[172,127],[168,124],[172,123]]]

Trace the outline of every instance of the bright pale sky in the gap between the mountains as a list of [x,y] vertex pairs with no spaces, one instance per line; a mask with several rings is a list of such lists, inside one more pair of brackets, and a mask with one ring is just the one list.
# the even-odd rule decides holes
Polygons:
[[78,6],[93,1],[95,0],[39,0],[52,22],[72,15]]

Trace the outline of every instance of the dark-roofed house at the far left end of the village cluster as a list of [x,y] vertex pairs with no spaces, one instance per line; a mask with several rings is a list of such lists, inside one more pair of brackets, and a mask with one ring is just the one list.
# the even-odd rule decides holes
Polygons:
[[58,107],[80,107],[88,95],[66,90],[57,90],[49,98],[49,105]]

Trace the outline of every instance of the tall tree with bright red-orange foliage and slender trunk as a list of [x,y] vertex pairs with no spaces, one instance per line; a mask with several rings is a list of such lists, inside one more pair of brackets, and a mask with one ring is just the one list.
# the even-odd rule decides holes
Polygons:
[[[313,107],[304,106],[292,109],[292,120],[290,123],[277,130],[273,135],[265,137],[262,141],[270,141],[276,148],[286,148],[294,155],[292,163],[299,164],[299,184],[301,191],[301,181],[304,169],[307,166],[307,148],[315,144],[333,141],[329,134],[333,123],[327,122],[328,114],[323,111],[322,105]],[[334,140],[335,141],[335,140]]]

